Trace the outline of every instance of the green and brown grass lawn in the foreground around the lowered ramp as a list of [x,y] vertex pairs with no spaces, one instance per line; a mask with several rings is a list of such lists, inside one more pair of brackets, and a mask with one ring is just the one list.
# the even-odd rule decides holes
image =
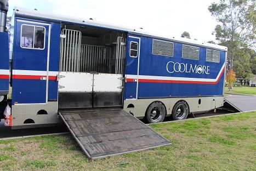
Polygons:
[[70,134],[0,141],[1,170],[255,170],[256,112],[152,124],[173,145],[89,161]]

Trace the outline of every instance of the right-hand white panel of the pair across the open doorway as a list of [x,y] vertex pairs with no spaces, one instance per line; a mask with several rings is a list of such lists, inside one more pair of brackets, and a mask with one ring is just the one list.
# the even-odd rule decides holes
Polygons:
[[94,92],[122,92],[121,74],[99,73],[94,75]]

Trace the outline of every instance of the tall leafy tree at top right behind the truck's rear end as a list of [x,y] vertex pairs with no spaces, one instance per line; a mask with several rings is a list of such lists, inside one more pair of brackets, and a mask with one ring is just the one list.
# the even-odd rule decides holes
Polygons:
[[[238,64],[237,49],[251,47],[255,41],[255,0],[220,0],[212,3],[208,10],[220,22],[214,34],[221,45],[228,47],[228,69]],[[236,67],[237,68],[237,67]]]

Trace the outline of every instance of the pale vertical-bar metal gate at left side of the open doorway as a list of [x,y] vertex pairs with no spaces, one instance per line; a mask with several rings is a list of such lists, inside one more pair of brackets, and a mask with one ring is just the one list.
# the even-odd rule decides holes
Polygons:
[[81,56],[81,31],[63,29],[60,45],[60,71],[78,72]]

